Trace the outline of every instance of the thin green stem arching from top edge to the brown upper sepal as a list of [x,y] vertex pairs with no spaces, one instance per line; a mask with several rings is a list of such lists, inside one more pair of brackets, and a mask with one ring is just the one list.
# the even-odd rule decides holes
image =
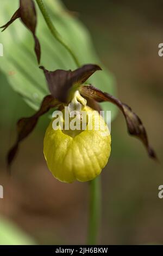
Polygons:
[[70,55],[72,56],[74,62],[76,63],[77,67],[80,67],[80,63],[77,59],[77,56],[74,54],[74,52],[72,51],[72,49],[64,42],[64,40],[62,40],[61,35],[58,33],[57,29],[54,27],[51,18],[45,8],[45,5],[43,3],[42,0],[36,0],[39,9],[47,23],[48,28],[50,29],[51,33],[53,34],[53,37],[59,41],[59,43],[65,47],[65,49],[70,52]]

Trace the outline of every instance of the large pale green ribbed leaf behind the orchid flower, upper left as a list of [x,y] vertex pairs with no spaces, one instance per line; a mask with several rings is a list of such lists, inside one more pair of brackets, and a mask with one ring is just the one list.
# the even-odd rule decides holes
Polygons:
[[[46,0],[45,5],[54,26],[73,49],[81,66],[96,63],[102,67],[103,71],[93,74],[89,82],[102,91],[115,95],[115,79],[99,61],[87,29],[76,17],[70,15],[60,1]],[[1,3],[0,26],[9,20],[17,8],[18,1],[12,1],[11,4],[10,0],[5,0]],[[40,10],[36,9],[38,17],[36,33],[42,50],[41,65],[48,70],[76,69],[76,64],[70,53],[54,39]],[[49,93],[45,76],[37,66],[32,34],[20,20],[16,20],[0,34],[0,43],[4,46],[4,57],[0,59],[0,68],[6,75],[9,84],[22,95],[32,108],[38,109],[43,97]],[[114,105],[102,103],[102,106],[104,110],[111,110],[112,118],[116,115]]]

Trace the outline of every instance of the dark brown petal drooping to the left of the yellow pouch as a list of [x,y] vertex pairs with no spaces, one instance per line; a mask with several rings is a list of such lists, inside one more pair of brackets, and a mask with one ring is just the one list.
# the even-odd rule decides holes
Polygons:
[[10,149],[8,153],[7,163],[10,166],[12,160],[14,160],[18,146],[20,142],[26,138],[35,128],[39,117],[48,112],[49,109],[55,108],[59,106],[60,102],[57,99],[54,99],[53,96],[48,95],[46,96],[40,106],[40,109],[30,117],[23,117],[17,122],[17,140],[14,146]]

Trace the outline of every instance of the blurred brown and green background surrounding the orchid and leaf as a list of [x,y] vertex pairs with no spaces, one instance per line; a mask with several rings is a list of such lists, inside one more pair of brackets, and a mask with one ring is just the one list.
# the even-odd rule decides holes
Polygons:
[[[158,45],[163,42],[162,1],[62,2],[91,32],[99,58],[116,78],[118,97],[143,120],[161,162],[163,57],[158,56]],[[4,187],[0,215],[36,243],[84,244],[89,186],[61,183],[48,171],[42,152],[47,116],[21,144],[8,180],[5,155],[15,139],[15,123],[34,111],[12,90],[7,75],[1,72],[0,78],[0,184]],[[102,172],[99,244],[163,243],[163,199],[158,198],[162,164],[149,159],[140,141],[128,136],[121,113],[112,122],[111,134],[111,157]]]

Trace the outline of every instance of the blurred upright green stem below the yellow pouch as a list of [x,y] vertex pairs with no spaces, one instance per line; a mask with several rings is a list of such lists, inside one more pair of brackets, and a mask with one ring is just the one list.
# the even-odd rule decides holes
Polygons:
[[98,244],[99,226],[101,223],[101,177],[90,181],[90,216],[88,245]]

